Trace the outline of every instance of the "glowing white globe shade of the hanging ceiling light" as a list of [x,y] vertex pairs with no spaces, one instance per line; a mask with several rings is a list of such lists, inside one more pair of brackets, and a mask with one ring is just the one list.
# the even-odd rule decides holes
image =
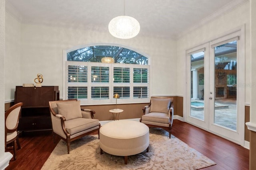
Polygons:
[[116,38],[129,39],[138,35],[140,23],[130,16],[118,16],[109,22],[108,31]]

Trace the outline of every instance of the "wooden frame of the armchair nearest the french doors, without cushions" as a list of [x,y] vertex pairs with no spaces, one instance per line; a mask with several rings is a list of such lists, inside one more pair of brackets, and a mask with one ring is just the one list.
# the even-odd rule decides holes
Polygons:
[[[173,109],[173,98],[170,97],[154,97],[154,98],[168,98],[171,100],[170,102],[170,109],[169,109],[169,115],[170,115],[170,119],[169,119],[169,126],[165,127],[165,126],[160,126],[160,125],[152,125],[152,124],[148,124],[148,123],[144,123],[145,125],[147,125],[149,128],[150,127],[159,127],[162,129],[165,129],[166,131],[169,132],[169,138],[171,138],[171,133],[172,133],[172,123],[173,123],[173,116],[174,116],[174,109]],[[150,104],[148,106],[145,106],[142,108],[143,110],[143,115],[150,113],[150,106],[151,106],[151,100],[150,100]],[[142,117],[140,118],[140,122],[142,121]]]

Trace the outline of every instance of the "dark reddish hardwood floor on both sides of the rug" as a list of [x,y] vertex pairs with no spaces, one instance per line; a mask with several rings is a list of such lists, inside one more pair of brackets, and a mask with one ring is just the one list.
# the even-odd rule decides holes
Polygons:
[[[249,150],[226,139],[179,120],[174,120],[172,135],[216,162],[204,170],[249,169]],[[24,133],[19,139],[22,149],[6,170],[40,170],[60,140],[54,144],[51,131]]]

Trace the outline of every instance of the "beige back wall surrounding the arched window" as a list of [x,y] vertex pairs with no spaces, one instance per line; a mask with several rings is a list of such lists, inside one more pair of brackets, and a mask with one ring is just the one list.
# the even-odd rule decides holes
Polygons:
[[[152,65],[151,95],[176,94],[176,82],[172,81],[176,80],[173,71],[176,70],[176,41],[140,36],[124,40],[114,38],[108,32],[21,25],[21,79],[18,85],[34,83],[36,74],[40,73],[44,76],[42,85],[59,86],[62,97],[63,50],[83,45],[108,44],[121,45],[149,57]],[[10,90],[7,92],[10,93]]]

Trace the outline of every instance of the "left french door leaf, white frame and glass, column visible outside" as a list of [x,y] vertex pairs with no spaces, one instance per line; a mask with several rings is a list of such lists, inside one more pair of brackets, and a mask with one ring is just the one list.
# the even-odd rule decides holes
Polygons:
[[187,51],[187,102],[188,122],[209,129],[209,43]]

